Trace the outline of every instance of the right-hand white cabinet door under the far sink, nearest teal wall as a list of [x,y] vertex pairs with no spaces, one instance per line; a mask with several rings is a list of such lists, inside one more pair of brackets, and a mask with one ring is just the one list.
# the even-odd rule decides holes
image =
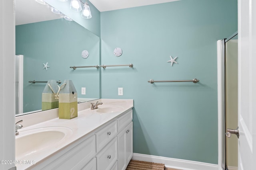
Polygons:
[[126,135],[125,135],[125,159],[126,159],[126,166],[130,162],[132,155],[133,155],[133,127],[132,122],[125,128]]

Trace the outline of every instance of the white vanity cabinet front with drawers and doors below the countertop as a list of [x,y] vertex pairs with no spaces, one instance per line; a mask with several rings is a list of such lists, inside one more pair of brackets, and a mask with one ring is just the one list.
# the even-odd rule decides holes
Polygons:
[[132,125],[129,109],[32,169],[125,170],[133,154]]

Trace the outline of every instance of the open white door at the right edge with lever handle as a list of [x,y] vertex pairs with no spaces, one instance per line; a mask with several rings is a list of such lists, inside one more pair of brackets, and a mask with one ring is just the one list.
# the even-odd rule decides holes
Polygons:
[[238,169],[256,169],[256,1],[238,0]]

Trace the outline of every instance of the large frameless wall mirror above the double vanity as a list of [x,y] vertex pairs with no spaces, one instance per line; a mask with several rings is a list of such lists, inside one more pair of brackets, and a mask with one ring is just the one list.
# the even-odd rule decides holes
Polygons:
[[[100,38],[75,21],[52,13],[50,6],[35,0],[16,1],[15,8],[16,16],[19,16],[16,17],[16,55],[23,55],[23,64],[18,67],[22,60],[16,63],[16,75],[20,76],[20,82],[23,81],[16,80],[17,89],[23,86],[22,96],[16,92],[19,101],[16,105],[20,103],[20,107],[16,106],[16,115],[41,111],[42,91],[48,80],[72,80],[80,102],[100,98],[100,70],[95,67],[70,68],[99,65]],[[29,16],[31,20],[22,23],[19,21],[22,14],[28,16],[26,20],[30,20]],[[82,57],[84,50],[89,52],[86,59]],[[23,74],[20,75],[20,72]],[[43,82],[29,82],[33,80]],[[81,88],[86,88],[85,95],[81,94]]]

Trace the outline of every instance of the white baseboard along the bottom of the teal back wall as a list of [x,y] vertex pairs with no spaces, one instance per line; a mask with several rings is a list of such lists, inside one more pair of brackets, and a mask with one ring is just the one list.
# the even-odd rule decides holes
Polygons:
[[180,170],[218,170],[217,164],[208,164],[204,162],[167,158],[167,157],[147,155],[147,154],[134,153],[132,156],[132,159],[161,163],[161,164],[165,164],[167,168],[176,168]]

